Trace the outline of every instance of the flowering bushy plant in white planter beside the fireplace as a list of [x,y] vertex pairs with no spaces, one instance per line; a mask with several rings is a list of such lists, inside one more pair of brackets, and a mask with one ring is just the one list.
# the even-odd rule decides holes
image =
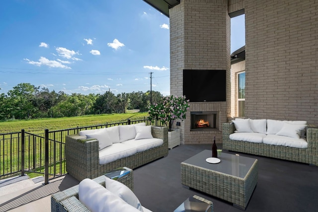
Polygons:
[[[186,111],[189,108],[189,100],[185,96],[165,96],[159,103],[150,105],[149,120],[151,122],[160,121],[162,125],[168,127],[169,148],[180,144],[180,130],[172,130],[173,121],[186,118]],[[174,132],[174,133],[172,133]]]

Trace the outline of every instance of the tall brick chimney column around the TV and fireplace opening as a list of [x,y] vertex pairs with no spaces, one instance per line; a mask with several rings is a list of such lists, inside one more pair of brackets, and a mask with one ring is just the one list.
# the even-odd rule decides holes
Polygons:
[[[181,0],[170,14],[170,93],[183,94],[183,70],[225,70],[226,102],[190,103],[202,111],[217,109],[218,129],[190,131],[190,110],[181,123],[181,143],[211,143],[213,136],[222,142],[222,123],[230,116],[230,16],[228,0]],[[213,92],[213,91],[211,91]]]

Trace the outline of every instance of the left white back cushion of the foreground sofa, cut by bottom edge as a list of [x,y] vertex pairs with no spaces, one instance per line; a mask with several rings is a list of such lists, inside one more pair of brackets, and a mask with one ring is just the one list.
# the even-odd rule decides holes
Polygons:
[[79,183],[79,201],[91,212],[140,212],[88,178]]

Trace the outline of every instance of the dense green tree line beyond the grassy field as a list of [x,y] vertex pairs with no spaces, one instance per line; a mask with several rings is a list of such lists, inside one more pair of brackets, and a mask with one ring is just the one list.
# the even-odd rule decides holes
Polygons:
[[66,94],[49,91],[30,83],[19,83],[7,94],[0,94],[0,120],[60,118],[92,114],[125,113],[127,109],[148,111],[151,101],[158,102],[162,94],[158,91],[113,94],[80,93]]

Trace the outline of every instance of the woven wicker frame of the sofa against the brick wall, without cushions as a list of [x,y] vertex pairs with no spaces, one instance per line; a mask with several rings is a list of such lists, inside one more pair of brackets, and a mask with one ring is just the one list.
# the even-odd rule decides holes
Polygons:
[[318,165],[318,128],[307,124],[305,131],[306,145],[291,147],[282,143],[232,140],[230,135],[237,132],[235,124],[223,123],[223,149]]

